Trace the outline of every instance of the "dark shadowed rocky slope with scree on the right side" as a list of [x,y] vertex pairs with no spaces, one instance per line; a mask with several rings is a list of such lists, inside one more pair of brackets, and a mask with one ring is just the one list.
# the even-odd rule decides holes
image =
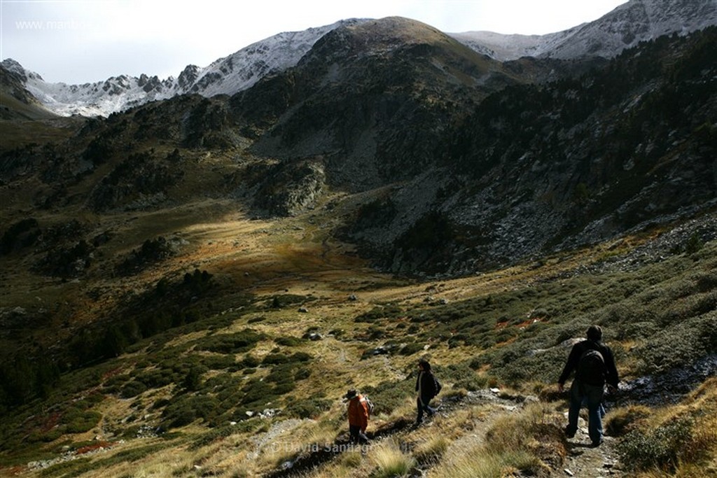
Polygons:
[[439,148],[430,212],[401,227],[409,202],[398,207],[384,264],[467,273],[713,208],[716,33],[662,37],[587,75],[488,97]]

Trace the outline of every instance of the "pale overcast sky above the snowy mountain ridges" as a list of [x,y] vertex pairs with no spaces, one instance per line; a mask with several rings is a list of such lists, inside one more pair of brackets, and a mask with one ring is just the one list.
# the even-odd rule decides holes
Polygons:
[[0,58],[49,82],[178,76],[280,32],[406,16],[443,32],[546,34],[626,0],[0,0]]

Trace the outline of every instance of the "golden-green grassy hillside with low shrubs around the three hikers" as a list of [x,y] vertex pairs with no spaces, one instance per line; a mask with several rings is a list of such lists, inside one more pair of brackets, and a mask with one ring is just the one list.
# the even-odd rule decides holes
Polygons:
[[[29,337],[6,329],[9,343],[16,334],[42,350],[62,350],[52,337],[73,345],[47,380],[22,355],[4,364],[4,383],[37,373],[39,387],[5,389],[19,399],[1,419],[1,473],[559,473],[574,445],[561,435],[566,401],[552,383],[566,344],[593,322],[604,327],[625,383],[609,402],[614,472],[696,477],[714,469],[714,379],[685,372],[680,396],[665,396],[675,402],[659,408],[647,408],[650,394],[637,386],[655,373],[704,366],[717,348],[713,216],[679,234],[655,230],[476,277],[419,282],[375,272],[328,234],[355,207],[342,198],[274,221],[212,199],[167,216],[134,214],[133,224],[173,216],[168,229],[189,245],[92,287],[81,279],[23,284],[5,272],[5,320],[6,304],[29,307],[42,297],[59,311],[73,291],[82,303],[73,314],[85,319]],[[101,327],[92,322],[110,310],[123,313]],[[14,320],[26,317],[16,313]],[[443,408],[412,429],[414,365],[425,355],[444,383]],[[341,396],[351,386],[377,407],[363,452],[341,447]]]

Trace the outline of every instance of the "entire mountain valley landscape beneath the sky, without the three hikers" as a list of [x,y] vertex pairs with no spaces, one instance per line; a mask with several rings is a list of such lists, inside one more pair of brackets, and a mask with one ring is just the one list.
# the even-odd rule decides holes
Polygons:
[[[717,477],[716,45],[716,0],[630,0],[166,80],[4,59],[0,476]],[[558,387],[591,325],[595,446]]]

